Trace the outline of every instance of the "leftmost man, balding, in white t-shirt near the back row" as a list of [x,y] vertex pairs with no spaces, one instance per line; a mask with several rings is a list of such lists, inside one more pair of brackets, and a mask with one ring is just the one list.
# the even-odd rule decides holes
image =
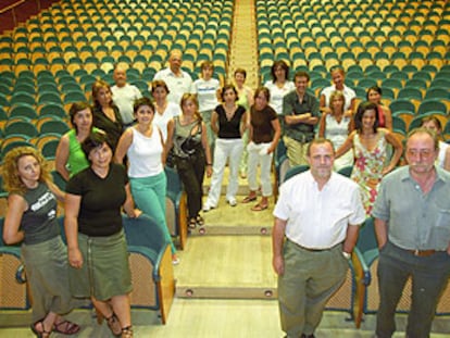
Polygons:
[[117,65],[113,73],[115,86],[111,87],[113,101],[117,105],[125,127],[133,124],[135,117],[133,104],[142,97],[140,90],[126,83],[126,71],[122,65]]

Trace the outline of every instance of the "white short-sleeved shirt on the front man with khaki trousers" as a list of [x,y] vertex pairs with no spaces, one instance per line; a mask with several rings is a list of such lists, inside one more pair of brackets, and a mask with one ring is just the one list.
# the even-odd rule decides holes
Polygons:
[[289,240],[309,249],[329,249],[346,239],[348,225],[364,222],[365,211],[357,183],[332,173],[318,190],[308,171],[282,185],[274,216],[287,221]]

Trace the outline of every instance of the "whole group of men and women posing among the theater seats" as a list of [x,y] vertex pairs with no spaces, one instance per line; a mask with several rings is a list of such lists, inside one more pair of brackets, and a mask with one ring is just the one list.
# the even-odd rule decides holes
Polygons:
[[[117,66],[115,86],[102,80],[92,85],[92,107],[87,102],[71,107],[73,129],[61,138],[55,154],[55,167],[67,180],[65,192],[51,183],[37,150],[21,147],[7,154],[3,180],[10,196],[3,238],[7,243],[23,241],[34,297],[32,330],[39,337],[77,333],[79,326],[63,315],[76,299],[90,298],[114,335],[133,337],[121,213],[137,217],[143,212],[155,218],[177,264],[165,218],[164,166],[177,168],[188,197],[188,226],[193,229],[204,224],[201,211],[217,208],[226,165],[226,202],[237,205],[239,177],[247,177],[249,193],[241,202],[255,201],[252,211],[268,208],[272,160],[280,139],[291,166],[310,166],[280,187],[274,210],[273,266],[278,274],[282,327],[288,337],[314,337],[326,301],[343,281],[359,226],[370,215],[376,217],[380,247],[378,337],[393,331],[395,304],[411,273],[418,278],[417,290],[435,292],[413,317],[433,317],[450,253],[445,215],[450,205],[440,200],[449,178],[434,165],[436,161],[450,167],[450,147],[435,138],[441,132],[439,121],[424,120],[425,128],[407,142],[410,165],[401,174],[388,175],[403,149],[391,133],[380,88],[370,88],[367,100],[357,107],[355,93],[337,67],[332,70],[333,85],[317,100],[308,90],[307,72],[297,72],[290,82],[288,65],[276,61],[273,79],[253,92],[245,85],[245,70],[235,71],[234,84],[221,84],[207,61],[201,78],[192,82],[182,70],[182,59],[179,51],[171,52],[168,67],[157,73],[149,88],[153,100],[127,84],[126,71]],[[353,167],[350,179],[336,173],[347,166]],[[212,178],[203,203],[204,175]],[[416,200],[402,203],[401,192]],[[66,247],[57,222],[57,200],[64,202]],[[423,206],[432,203],[436,203],[433,215]],[[420,229],[418,220],[424,217],[429,226]],[[409,220],[423,240],[404,228]],[[418,254],[409,256],[412,251]],[[416,272],[425,258],[433,268],[443,268],[434,284]],[[399,264],[408,267],[398,268]],[[397,293],[390,285],[396,285]],[[413,300],[414,309],[423,297]],[[411,322],[409,331],[415,329]]]

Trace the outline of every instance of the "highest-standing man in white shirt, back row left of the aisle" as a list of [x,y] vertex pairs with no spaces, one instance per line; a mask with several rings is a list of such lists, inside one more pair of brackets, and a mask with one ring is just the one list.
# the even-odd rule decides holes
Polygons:
[[168,67],[159,71],[154,77],[165,82],[168,88],[167,101],[179,105],[185,92],[192,92],[192,78],[182,70],[183,54],[179,50],[173,50],[168,57]]

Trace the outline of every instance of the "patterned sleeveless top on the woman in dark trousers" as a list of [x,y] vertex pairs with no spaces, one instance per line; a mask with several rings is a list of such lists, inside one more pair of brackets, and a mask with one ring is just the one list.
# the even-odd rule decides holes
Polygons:
[[196,120],[183,126],[179,117],[174,118],[174,154],[187,159],[197,151],[202,151],[201,122]]

